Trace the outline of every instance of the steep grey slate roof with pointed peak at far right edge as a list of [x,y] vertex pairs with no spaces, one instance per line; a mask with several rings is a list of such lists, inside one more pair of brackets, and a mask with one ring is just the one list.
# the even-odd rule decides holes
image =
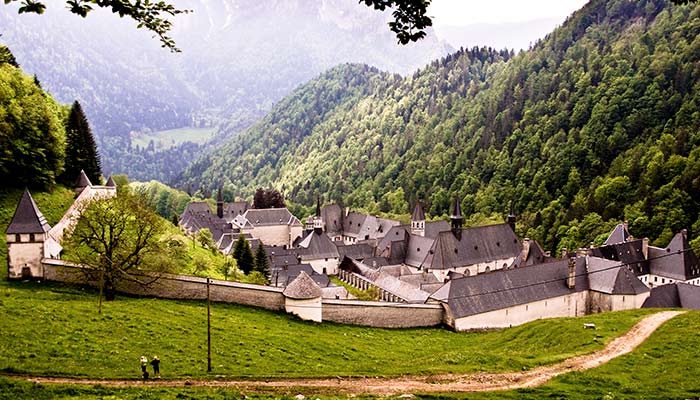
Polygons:
[[677,233],[665,249],[649,247],[649,271],[682,281],[700,276],[700,262],[685,232]]

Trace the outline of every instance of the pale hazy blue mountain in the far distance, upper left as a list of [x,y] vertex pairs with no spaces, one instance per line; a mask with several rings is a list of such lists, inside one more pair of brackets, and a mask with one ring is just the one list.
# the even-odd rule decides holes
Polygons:
[[[347,0],[183,0],[173,21],[182,53],[160,48],[133,21],[95,10],[82,19],[48,4],[45,15],[0,7],[0,34],[29,74],[64,103],[78,100],[106,174],[167,180],[203,149],[138,149],[149,131],[217,126],[234,135],[327,68],[365,62],[407,73],[450,49],[434,35],[397,46],[389,13]],[[133,148],[132,148],[133,147]]]

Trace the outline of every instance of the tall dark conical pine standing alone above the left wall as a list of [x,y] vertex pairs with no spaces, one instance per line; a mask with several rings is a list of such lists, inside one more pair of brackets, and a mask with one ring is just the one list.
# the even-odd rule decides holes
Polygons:
[[95,138],[80,103],[76,101],[66,122],[66,163],[62,180],[67,184],[75,183],[81,169],[92,184],[101,183],[102,170]]

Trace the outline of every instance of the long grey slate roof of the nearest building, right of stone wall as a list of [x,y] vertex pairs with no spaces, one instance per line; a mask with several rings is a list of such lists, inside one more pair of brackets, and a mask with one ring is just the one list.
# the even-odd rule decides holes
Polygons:
[[430,297],[447,303],[454,318],[462,318],[587,290],[585,259],[576,259],[574,289],[566,285],[568,264],[562,260],[458,278]]

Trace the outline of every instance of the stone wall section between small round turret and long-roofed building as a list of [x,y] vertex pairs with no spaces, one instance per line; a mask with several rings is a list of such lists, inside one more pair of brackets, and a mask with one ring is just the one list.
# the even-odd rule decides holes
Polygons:
[[379,328],[415,328],[442,324],[439,304],[403,304],[357,300],[323,300],[323,320]]

